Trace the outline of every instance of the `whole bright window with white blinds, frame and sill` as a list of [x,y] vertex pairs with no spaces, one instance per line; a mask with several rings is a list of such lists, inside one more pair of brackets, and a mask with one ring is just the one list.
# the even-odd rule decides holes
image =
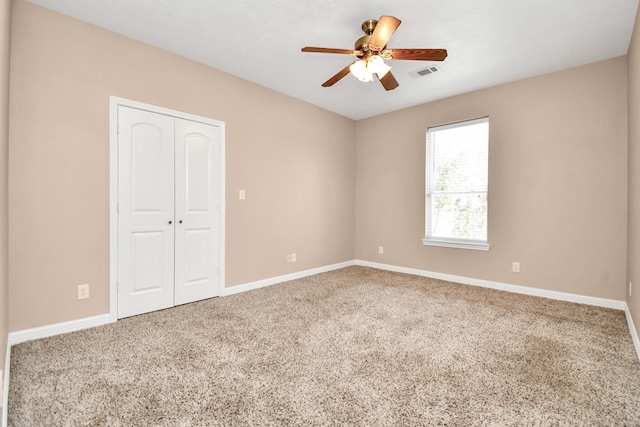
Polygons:
[[425,245],[488,250],[489,119],[427,130]]

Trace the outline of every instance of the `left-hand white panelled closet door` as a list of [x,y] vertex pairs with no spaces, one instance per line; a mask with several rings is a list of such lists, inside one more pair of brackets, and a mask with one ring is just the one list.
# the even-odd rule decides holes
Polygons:
[[174,305],[174,119],[118,109],[118,318]]

